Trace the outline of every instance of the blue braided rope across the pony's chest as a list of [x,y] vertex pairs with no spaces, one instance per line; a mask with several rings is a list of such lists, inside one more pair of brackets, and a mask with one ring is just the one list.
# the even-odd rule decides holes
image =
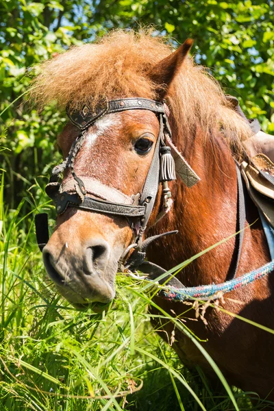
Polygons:
[[221,284],[210,284],[209,286],[198,286],[198,287],[186,287],[186,288],[176,288],[165,286],[160,290],[160,297],[167,299],[169,301],[184,301],[189,298],[199,298],[199,299],[217,299],[219,298],[218,293],[221,291],[223,293],[236,290],[242,286],[253,282],[256,279],[264,277],[274,271],[274,260],[256,269],[242,275],[241,277],[231,279],[227,282]]

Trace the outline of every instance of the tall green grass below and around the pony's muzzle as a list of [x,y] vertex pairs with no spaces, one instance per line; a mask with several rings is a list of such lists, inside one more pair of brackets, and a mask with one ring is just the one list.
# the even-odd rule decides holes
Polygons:
[[[219,384],[188,370],[150,322],[147,284],[117,275],[108,312],[77,312],[45,276],[34,212],[51,206],[38,183],[16,210],[0,188],[0,410],[261,410],[229,387],[199,340],[160,310],[208,356]],[[29,212],[29,203],[34,212]],[[53,221],[51,221],[53,224]],[[153,304],[153,303],[152,303]],[[215,384],[215,385],[214,385]],[[253,395],[256,397],[256,395]]]

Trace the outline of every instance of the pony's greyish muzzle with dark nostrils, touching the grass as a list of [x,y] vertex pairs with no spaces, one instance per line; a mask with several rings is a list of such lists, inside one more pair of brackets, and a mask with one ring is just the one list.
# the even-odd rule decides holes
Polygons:
[[92,238],[78,249],[65,244],[58,255],[49,241],[43,250],[43,260],[49,277],[74,306],[109,303],[115,297],[115,275],[108,275],[108,267],[114,262],[110,245],[103,238]]

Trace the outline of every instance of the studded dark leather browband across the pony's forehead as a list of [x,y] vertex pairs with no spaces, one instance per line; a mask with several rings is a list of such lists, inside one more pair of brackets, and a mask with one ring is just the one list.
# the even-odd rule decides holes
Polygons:
[[73,111],[71,111],[68,106],[66,108],[66,114],[71,120],[71,123],[84,131],[101,116],[126,110],[150,110],[155,114],[164,114],[164,105],[160,101],[138,99],[134,97],[129,99],[110,100],[103,103],[103,105],[99,105],[94,111],[90,110],[88,105],[85,105],[82,110]]

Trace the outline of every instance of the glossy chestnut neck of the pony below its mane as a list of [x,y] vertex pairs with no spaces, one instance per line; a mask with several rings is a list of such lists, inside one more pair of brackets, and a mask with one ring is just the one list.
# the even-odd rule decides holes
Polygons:
[[[173,210],[153,229],[154,232],[179,230],[177,236],[164,238],[159,248],[157,245],[151,247],[149,258],[166,269],[231,236],[237,227],[236,164],[223,137],[205,138],[197,129],[195,138],[188,140],[185,147],[178,144],[178,148],[201,181],[192,188],[186,188],[178,181],[173,184]],[[253,206],[251,209],[249,222],[253,223],[258,213]],[[258,248],[258,241],[264,242],[260,223],[256,229],[257,238],[253,238],[251,229],[245,230],[244,248],[251,247],[251,252],[254,245]],[[233,257],[235,244],[236,238],[232,238],[208,251],[179,273],[179,278],[187,286],[225,281],[236,264]],[[159,253],[162,246],[166,247],[166,253]],[[263,264],[267,258],[267,249],[264,249],[258,260]],[[245,269],[247,264],[240,264],[239,271]]]

